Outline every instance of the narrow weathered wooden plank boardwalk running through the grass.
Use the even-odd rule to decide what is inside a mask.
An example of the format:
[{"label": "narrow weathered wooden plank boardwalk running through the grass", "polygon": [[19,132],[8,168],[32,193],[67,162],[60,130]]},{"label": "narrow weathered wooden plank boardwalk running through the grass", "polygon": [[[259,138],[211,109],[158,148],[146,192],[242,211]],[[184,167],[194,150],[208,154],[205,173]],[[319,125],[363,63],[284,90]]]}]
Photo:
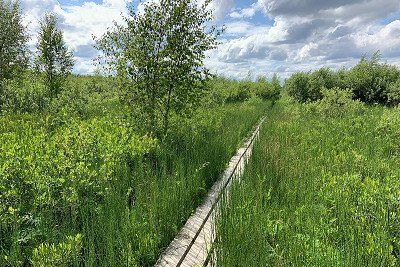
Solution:
[{"label": "narrow weathered wooden plank boardwalk running through the grass", "polygon": [[214,238],[214,218],[221,194],[229,190],[232,181],[239,179],[251,156],[254,140],[258,137],[263,118],[253,134],[229,161],[227,169],[209,191],[205,201],[187,220],[184,227],[160,256],[155,266],[205,266]]}]

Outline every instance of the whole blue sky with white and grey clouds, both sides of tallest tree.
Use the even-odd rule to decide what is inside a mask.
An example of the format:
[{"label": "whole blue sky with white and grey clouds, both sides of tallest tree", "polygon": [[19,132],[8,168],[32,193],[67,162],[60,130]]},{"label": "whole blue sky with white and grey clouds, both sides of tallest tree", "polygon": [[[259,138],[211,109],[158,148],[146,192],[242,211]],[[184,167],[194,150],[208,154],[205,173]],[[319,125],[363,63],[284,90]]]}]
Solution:
[{"label": "whole blue sky with white and grey clouds, both sides of tallest tree", "polygon": [[[146,0],[155,1],[155,0]],[[202,1],[202,0],[197,0]],[[55,12],[66,43],[75,53],[76,73],[91,73],[93,36],[122,22],[125,0],[22,0],[25,21],[36,42],[38,19]],[[380,50],[400,64],[399,0],[213,0],[215,23],[225,25],[222,44],[206,65],[221,75],[243,78],[322,66],[350,67],[363,54]]]}]

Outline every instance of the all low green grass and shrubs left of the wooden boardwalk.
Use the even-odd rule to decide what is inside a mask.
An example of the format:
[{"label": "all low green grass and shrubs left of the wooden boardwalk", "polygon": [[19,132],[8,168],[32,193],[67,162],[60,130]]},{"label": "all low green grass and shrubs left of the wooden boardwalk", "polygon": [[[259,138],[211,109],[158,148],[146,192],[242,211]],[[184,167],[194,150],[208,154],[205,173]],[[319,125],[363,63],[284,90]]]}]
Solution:
[{"label": "all low green grass and shrubs left of the wooden boardwalk", "polygon": [[165,142],[118,112],[0,116],[0,266],[150,266],[270,104],[200,109]]}]

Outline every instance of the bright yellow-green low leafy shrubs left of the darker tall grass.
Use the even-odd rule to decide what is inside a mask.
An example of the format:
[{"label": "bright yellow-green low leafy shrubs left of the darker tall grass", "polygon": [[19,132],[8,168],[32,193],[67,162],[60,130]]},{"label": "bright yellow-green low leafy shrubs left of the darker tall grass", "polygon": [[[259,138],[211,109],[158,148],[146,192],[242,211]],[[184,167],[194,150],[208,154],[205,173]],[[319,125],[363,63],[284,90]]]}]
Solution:
[{"label": "bright yellow-green low leafy shrubs left of the darker tall grass", "polygon": [[19,266],[39,241],[54,242],[58,231],[98,215],[116,196],[113,185],[127,177],[128,162],[155,146],[116,119],[69,118],[51,132],[51,118],[41,120],[0,117],[0,254],[10,262],[0,258],[0,266]]}]

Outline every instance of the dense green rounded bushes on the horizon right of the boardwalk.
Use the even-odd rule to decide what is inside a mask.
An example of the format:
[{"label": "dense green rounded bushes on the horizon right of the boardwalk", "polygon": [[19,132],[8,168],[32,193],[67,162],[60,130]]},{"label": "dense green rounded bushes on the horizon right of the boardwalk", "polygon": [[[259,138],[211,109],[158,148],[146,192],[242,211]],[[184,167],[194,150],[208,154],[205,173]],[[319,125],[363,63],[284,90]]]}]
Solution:
[{"label": "dense green rounded bushes on the horizon right of the boardwalk", "polygon": [[371,59],[361,58],[350,70],[334,72],[321,68],[314,72],[299,72],[286,80],[285,88],[295,101],[300,103],[318,101],[323,97],[323,88],[350,89],[353,98],[367,104],[396,105],[399,99],[398,83],[400,70],[396,66],[380,63],[380,54]]}]

